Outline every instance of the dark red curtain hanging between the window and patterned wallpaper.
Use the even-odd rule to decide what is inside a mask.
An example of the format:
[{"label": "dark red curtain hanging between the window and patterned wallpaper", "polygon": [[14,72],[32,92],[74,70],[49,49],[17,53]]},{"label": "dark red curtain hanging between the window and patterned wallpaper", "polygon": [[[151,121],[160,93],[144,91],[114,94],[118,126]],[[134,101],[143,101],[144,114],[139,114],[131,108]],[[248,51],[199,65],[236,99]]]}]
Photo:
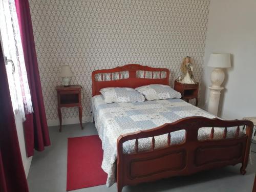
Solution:
[{"label": "dark red curtain hanging between the window and patterned wallpaper", "polygon": [[45,105],[42,98],[41,82],[35,51],[35,42],[28,0],[15,0],[20,36],[31,93],[33,114],[26,115],[24,122],[25,142],[28,157],[49,146],[50,137],[46,121]]}]

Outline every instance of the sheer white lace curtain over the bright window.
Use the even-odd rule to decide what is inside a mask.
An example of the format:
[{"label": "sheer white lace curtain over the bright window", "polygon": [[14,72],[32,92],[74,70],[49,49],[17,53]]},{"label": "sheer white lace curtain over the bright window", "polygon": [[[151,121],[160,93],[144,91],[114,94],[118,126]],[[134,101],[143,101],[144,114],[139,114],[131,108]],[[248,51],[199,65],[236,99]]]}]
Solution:
[{"label": "sheer white lace curtain over the bright window", "polygon": [[14,0],[0,0],[0,32],[4,55],[15,66],[13,74],[11,63],[6,65],[13,110],[25,121],[25,114],[33,113],[33,107]]}]

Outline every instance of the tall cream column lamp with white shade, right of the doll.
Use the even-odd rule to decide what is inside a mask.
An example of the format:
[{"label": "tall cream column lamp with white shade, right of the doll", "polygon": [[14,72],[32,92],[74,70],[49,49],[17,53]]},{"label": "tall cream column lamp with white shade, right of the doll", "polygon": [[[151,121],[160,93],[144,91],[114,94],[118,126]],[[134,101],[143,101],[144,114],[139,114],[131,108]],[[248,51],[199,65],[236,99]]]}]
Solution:
[{"label": "tall cream column lamp with white shade, right of the doll", "polygon": [[225,78],[223,68],[231,67],[230,54],[211,53],[208,61],[208,67],[215,68],[211,72],[211,86],[208,87],[210,89],[208,112],[217,116],[221,90],[224,89],[221,87],[221,84]]}]

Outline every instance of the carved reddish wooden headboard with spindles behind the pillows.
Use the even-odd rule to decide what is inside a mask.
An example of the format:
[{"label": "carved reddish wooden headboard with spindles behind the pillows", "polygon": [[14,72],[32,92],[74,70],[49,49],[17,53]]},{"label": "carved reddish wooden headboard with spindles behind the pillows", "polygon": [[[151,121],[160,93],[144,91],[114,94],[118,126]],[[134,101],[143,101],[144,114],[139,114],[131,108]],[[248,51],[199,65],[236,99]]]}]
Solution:
[{"label": "carved reddish wooden headboard with spindles behind the pillows", "polygon": [[108,87],[137,88],[147,84],[169,84],[169,70],[129,64],[113,69],[92,72],[92,95],[99,95],[100,89]]}]

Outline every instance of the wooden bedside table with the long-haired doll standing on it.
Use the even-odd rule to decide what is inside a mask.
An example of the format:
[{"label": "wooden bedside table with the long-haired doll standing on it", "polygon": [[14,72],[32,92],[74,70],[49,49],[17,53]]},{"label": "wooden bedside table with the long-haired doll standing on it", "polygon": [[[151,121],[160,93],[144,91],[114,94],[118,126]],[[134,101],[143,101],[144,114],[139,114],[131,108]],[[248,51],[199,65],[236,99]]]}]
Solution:
[{"label": "wooden bedside table with the long-haired doll standing on it", "polygon": [[178,81],[174,81],[174,89],[181,93],[181,98],[187,102],[190,99],[196,99],[196,106],[198,105],[198,85],[197,84],[183,84]]}]

